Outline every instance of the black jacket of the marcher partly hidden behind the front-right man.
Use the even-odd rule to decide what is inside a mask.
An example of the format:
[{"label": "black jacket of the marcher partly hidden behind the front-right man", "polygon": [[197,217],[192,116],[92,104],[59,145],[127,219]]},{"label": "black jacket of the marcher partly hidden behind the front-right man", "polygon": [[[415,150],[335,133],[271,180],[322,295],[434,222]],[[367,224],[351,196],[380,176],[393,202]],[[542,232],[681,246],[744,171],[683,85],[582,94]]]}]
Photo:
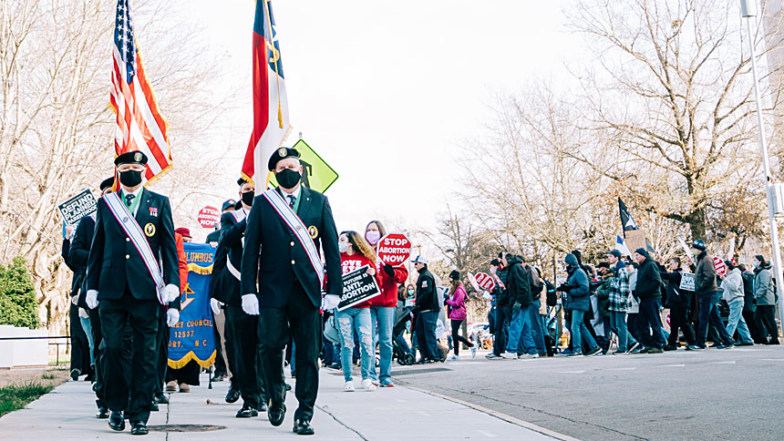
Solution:
[{"label": "black jacket of the marcher partly hidden behind the front-right man", "polygon": [[211,296],[222,303],[242,306],[240,281],[229,271],[226,262],[240,271],[242,268],[242,237],[245,234],[246,220],[239,222],[232,213],[221,216],[221,239],[212,262]]}]

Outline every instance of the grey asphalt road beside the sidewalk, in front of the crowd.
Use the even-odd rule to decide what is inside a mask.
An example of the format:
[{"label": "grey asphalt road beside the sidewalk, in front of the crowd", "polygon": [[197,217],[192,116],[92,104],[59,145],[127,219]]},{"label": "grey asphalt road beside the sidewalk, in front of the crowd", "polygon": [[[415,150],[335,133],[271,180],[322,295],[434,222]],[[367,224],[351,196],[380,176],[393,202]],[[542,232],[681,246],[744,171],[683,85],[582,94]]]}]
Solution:
[{"label": "grey asphalt road beside the sidewalk, in front of the crowd", "polygon": [[784,439],[784,347],[399,367],[396,380],[582,440]]}]

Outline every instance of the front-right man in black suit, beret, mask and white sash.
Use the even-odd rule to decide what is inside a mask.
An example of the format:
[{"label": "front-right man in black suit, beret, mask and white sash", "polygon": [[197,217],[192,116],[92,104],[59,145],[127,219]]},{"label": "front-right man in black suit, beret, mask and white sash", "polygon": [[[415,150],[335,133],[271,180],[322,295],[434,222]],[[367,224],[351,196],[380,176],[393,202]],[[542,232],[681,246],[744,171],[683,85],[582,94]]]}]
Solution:
[{"label": "front-right man in black suit, beret, mask and white sash", "polygon": [[321,245],[326,260],[327,297],[336,303],[343,293],[337,230],[326,197],[300,185],[303,167],[295,149],[277,149],[268,167],[279,187],[257,196],[246,220],[242,310],[259,314],[262,372],[270,401],[267,416],[273,426],[284,420],[283,351],[294,337],[294,395],[299,401],[294,432],[313,435],[324,278],[318,249]]}]

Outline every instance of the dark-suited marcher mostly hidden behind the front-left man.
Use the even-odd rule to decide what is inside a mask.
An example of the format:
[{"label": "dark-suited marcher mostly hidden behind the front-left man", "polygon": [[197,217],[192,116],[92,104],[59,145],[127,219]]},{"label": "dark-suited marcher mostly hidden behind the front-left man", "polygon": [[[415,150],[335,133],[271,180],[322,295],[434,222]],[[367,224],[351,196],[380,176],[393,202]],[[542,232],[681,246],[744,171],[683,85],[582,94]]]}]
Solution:
[{"label": "dark-suited marcher mostly hidden behind the front-left man", "polygon": [[[100,183],[100,192],[101,197],[103,195],[108,194],[112,191],[112,187],[114,186],[114,177],[104,179]],[[70,251],[68,251],[68,260],[74,265],[75,268],[80,269],[80,277],[78,281],[78,287],[74,287],[76,290],[79,290],[79,298],[77,301],[77,305],[80,308],[84,308],[88,312],[88,317],[90,321],[90,333],[92,334],[93,339],[93,359],[95,360],[95,365],[93,369],[95,371],[95,386],[93,387],[96,392],[96,405],[98,405],[98,413],[96,414],[97,418],[106,419],[108,418],[108,405],[106,404],[106,395],[104,391],[104,376],[106,375],[104,372],[101,371],[103,367],[103,363],[101,362],[101,354],[103,354],[103,347],[102,347],[102,338],[101,338],[101,331],[100,331],[100,317],[98,315],[98,308],[90,309],[88,308],[88,304],[86,302],[87,290],[84,288],[86,284],[85,274],[88,268],[88,258],[90,254],[90,244],[93,241],[93,232],[95,231],[95,216],[85,216],[82,220],[79,220],[79,224],[77,226],[77,231],[74,233],[74,240],[71,242]],[[74,278],[76,279],[76,270],[74,270]],[[76,282],[75,282],[76,283]],[[129,369],[129,364],[124,366],[126,370]],[[129,373],[129,371],[128,371]],[[130,374],[127,374],[130,376]]]}]

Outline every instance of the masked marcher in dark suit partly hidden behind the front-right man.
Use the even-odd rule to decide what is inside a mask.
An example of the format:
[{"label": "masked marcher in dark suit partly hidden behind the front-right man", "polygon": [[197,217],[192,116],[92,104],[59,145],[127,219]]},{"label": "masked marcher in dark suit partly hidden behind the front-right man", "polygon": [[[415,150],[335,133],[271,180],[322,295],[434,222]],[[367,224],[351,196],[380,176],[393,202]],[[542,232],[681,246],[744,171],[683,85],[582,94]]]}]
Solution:
[{"label": "masked marcher in dark suit partly hidden behind the front-right man", "polygon": [[220,272],[213,280],[215,289],[212,295],[225,304],[226,311],[226,345],[233,357],[229,364],[232,367],[232,385],[226,395],[226,401],[237,400],[236,391],[242,395],[242,408],[237,412],[238,418],[258,416],[259,410],[265,411],[263,379],[258,363],[259,317],[242,311],[240,292],[240,268],[242,268],[242,238],[245,235],[246,216],[251,210],[254,196],[253,182],[239,179],[240,198],[237,209],[224,212],[221,216],[221,240],[215,251],[212,273]]}]

